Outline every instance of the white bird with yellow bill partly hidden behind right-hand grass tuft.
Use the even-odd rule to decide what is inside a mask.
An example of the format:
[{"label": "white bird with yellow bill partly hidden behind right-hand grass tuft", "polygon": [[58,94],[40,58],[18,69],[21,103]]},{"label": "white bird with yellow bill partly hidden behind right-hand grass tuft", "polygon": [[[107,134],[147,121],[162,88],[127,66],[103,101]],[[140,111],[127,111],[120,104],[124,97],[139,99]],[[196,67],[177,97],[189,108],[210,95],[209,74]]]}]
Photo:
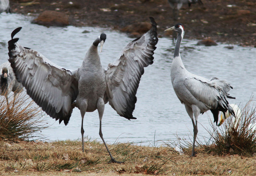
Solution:
[{"label": "white bird with yellow bill partly hidden behind right-hand grass tuft", "polygon": [[[234,123],[234,129],[237,130],[238,128],[238,123],[240,121],[240,118],[242,117],[242,113],[240,108],[236,105],[236,104],[230,104],[230,106],[232,107],[233,111],[235,112],[236,117],[234,117],[232,114],[230,114],[228,111],[225,112],[225,115],[223,114],[223,112],[220,112],[220,123],[218,124],[218,126],[221,126],[223,124],[223,122],[227,119],[227,118],[232,118],[231,121],[232,123]],[[250,123],[248,125],[248,129],[249,130],[256,130],[256,124],[255,123]]]}]

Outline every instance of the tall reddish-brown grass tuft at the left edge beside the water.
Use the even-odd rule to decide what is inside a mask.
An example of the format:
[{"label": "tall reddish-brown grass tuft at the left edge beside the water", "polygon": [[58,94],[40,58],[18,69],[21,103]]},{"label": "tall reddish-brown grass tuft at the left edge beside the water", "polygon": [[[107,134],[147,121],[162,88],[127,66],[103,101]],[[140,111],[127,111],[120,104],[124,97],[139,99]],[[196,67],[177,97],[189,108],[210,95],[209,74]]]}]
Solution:
[{"label": "tall reddish-brown grass tuft at the left edge beside the water", "polygon": [[9,104],[4,96],[0,97],[0,139],[36,140],[42,138],[38,132],[44,129],[41,109],[20,93],[15,102],[9,96]]}]

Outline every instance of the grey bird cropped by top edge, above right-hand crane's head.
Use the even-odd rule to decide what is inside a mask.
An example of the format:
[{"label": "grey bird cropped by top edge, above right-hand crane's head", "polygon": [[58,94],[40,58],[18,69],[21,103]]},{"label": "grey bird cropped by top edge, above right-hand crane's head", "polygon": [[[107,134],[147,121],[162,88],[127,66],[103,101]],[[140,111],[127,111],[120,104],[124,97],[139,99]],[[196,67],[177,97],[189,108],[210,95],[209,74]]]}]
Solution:
[{"label": "grey bird cropped by top edge, above right-hand crane's head", "polygon": [[201,0],[168,0],[168,3],[172,8],[174,20],[177,20],[179,17],[179,10],[182,4],[188,4],[189,7],[191,6],[191,4],[196,4],[196,3],[203,5],[203,2]]}]

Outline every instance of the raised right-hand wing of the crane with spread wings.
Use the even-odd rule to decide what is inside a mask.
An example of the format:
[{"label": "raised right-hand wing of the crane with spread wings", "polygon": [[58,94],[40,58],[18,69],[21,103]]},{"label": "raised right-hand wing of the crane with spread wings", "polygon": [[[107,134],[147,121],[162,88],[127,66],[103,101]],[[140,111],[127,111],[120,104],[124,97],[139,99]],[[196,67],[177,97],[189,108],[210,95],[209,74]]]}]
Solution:
[{"label": "raised right-hand wing of the crane with spread wings", "polygon": [[126,119],[132,116],[137,101],[136,92],[139,87],[144,67],[153,63],[153,54],[158,42],[156,22],[150,17],[152,28],[140,38],[126,45],[113,64],[106,69],[106,94],[109,104]]}]

